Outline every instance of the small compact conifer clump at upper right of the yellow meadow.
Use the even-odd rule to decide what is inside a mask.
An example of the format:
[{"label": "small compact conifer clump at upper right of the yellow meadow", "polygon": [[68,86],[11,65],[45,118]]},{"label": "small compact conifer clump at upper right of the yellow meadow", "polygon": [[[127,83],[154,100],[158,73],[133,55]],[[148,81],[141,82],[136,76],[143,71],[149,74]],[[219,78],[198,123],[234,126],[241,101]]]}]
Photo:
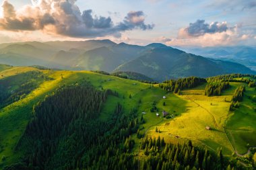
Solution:
[{"label": "small compact conifer clump at upper right of the yellow meadow", "polygon": [[222,91],[230,87],[228,82],[209,82],[205,87],[205,95],[221,95]]}]

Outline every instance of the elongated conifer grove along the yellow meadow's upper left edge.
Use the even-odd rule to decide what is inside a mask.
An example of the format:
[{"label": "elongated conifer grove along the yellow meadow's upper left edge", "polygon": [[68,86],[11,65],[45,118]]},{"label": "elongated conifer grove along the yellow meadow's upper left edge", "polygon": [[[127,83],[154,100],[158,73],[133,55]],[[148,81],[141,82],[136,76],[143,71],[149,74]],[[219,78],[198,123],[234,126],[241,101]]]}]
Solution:
[{"label": "elongated conifer grove along the yellow meadow's upper left edge", "polygon": [[179,90],[197,87],[198,85],[201,85],[201,83],[206,83],[206,80],[198,77],[187,77],[183,79],[164,81],[159,84],[159,87],[166,91],[178,93]]}]

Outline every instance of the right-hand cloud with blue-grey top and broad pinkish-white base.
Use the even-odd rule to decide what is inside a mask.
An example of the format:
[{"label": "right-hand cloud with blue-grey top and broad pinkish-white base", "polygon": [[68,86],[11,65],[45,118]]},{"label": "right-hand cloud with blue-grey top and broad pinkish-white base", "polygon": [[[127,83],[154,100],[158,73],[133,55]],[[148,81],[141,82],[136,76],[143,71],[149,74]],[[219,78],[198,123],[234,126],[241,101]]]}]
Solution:
[{"label": "right-hand cloud with blue-grey top and broad pinkish-white base", "polygon": [[160,39],[169,46],[232,46],[255,44],[254,37],[255,32],[244,30],[241,24],[228,27],[226,22],[206,24],[198,19],[188,27],[181,28],[177,38]]}]

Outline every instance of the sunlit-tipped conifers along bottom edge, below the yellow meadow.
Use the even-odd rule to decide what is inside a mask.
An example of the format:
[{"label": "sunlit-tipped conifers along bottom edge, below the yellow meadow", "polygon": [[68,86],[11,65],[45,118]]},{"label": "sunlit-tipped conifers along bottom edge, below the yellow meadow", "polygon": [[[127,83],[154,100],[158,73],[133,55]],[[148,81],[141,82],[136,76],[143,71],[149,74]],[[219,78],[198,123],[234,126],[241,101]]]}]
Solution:
[{"label": "sunlit-tipped conifers along bottom edge, below the yellow meadow", "polygon": [[[226,169],[228,162],[222,155],[187,144],[166,144],[164,138],[148,138],[141,142],[141,150],[147,157],[140,161],[142,169]],[[229,165],[230,167],[230,165]]]}]

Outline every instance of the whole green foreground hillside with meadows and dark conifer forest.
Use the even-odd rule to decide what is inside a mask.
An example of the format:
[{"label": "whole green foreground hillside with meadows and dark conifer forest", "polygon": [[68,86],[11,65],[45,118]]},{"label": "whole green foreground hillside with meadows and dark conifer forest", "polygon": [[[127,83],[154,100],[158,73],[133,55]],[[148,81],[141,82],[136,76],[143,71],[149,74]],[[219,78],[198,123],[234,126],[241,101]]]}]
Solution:
[{"label": "whole green foreground hillside with meadows and dark conifer forest", "polygon": [[[207,159],[209,155],[212,157],[212,167],[220,165],[226,168],[228,164],[231,167],[244,167],[251,163],[251,159],[245,157],[248,147],[256,146],[256,126],[253,123],[253,97],[256,91],[253,85],[249,87],[245,79],[254,81],[255,77],[233,77],[232,80],[239,82],[230,81],[230,87],[222,91],[221,95],[207,97],[204,93],[206,83],[195,84],[193,88],[184,87],[179,93],[168,93],[157,84],[152,86],[90,71],[5,67],[1,71],[0,80],[3,83],[11,81],[9,87],[1,88],[8,88],[10,91],[15,89],[31,73],[36,73],[30,80],[36,81],[36,86],[24,93],[24,97],[11,100],[11,103],[0,110],[0,169],[9,165],[12,167],[6,169],[22,169],[28,165],[39,169],[52,169],[55,166],[59,169],[100,169],[101,165],[108,168],[119,166],[137,169],[139,165],[139,169],[146,169],[147,166],[157,167],[157,163],[153,161],[159,159],[156,153],[162,155],[168,149],[170,152],[172,148],[180,151],[180,157],[185,157],[185,152],[179,148],[181,146],[176,145],[178,143],[184,144],[183,147],[189,148],[189,151],[193,148],[201,156],[198,165],[192,159],[190,163],[185,163],[177,158],[174,166],[179,163],[179,166],[205,167],[203,157]],[[240,85],[246,88],[243,101],[239,102],[239,108],[230,111],[232,96]],[[90,96],[95,97],[92,97],[92,101],[88,100],[88,88],[91,88]],[[94,104],[95,107],[90,108],[84,100],[88,103],[97,101],[98,105]],[[68,108],[73,107],[72,110],[75,111],[69,112],[63,103],[67,103]],[[57,108],[54,112],[47,111],[47,115],[46,111],[43,112],[44,105]],[[163,110],[169,115],[162,116]],[[67,116],[61,116],[63,113],[67,113]],[[157,113],[159,116],[156,116]],[[86,114],[91,116],[84,116]],[[47,126],[42,128],[44,124]],[[207,126],[210,130],[205,129]],[[156,128],[159,132],[156,132]],[[51,133],[53,136],[48,136]],[[164,138],[164,142],[159,146],[155,143],[156,146],[153,144],[154,147],[148,148],[146,140],[158,136],[160,139]],[[186,145],[189,140],[195,148],[191,144]],[[51,144],[47,141],[51,141]],[[159,149],[156,150],[156,147]],[[225,155],[223,163],[218,162],[220,148]],[[92,157],[92,153],[97,154]],[[119,155],[123,162],[117,164],[115,155]],[[37,162],[36,159],[42,161]],[[227,159],[232,161],[228,163]],[[243,163],[236,165],[237,159]],[[172,166],[171,160],[174,157],[166,159],[166,166],[168,163]]]}]

